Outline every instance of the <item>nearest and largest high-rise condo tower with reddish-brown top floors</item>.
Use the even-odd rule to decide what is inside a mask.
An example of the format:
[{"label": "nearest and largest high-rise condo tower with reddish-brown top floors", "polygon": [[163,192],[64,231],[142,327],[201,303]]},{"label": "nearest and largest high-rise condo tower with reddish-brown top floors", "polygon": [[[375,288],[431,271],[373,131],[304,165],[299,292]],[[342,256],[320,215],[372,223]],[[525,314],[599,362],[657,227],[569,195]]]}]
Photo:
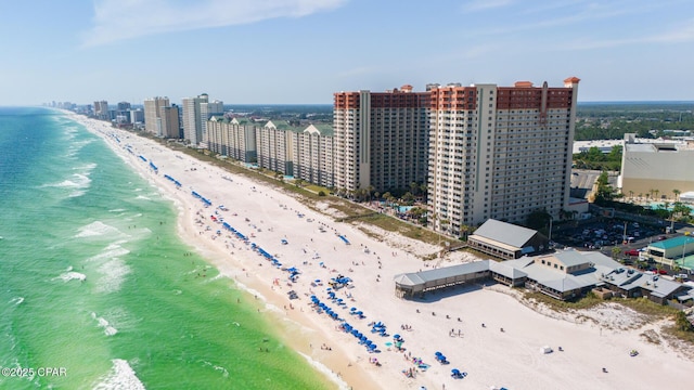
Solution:
[{"label": "nearest and largest high-rise condo tower with reddish-brown top floors", "polygon": [[564,87],[428,86],[428,206],[437,231],[553,218],[568,206],[578,78]]}]

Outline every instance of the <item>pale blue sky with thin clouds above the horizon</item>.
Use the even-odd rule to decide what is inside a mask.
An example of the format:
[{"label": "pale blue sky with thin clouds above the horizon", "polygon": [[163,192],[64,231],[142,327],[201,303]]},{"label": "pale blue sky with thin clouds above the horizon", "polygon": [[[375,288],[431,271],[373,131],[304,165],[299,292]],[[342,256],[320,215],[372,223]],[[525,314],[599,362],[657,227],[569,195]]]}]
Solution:
[{"label": "pale blue sky with thin clouds above the horizon", "polygon": [[574,76],[579,102],[694,101],[694,1],[0,1],[0,105],[332,104]]}]

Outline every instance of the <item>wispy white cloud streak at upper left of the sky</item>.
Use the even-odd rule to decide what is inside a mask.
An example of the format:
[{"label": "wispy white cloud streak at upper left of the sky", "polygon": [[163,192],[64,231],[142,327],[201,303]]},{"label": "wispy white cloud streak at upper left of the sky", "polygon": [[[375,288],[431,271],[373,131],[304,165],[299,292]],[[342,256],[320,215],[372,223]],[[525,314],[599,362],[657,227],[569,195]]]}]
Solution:
[{"label": "wispy white cloud streak at upper left of the sky", "polygon": [[93,27],[83,47],[155,34],[301,17],[347,0],[95,0]]}]

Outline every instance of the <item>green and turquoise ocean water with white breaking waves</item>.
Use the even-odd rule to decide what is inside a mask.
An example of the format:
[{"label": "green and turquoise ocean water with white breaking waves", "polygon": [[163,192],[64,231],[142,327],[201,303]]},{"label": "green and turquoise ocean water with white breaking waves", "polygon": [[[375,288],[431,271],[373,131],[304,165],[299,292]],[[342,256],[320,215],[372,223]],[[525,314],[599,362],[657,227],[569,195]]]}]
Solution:
[{"label": "green and turquoise ocean water with white breaking waves", "polygon": [[0,389],[330,389],[61,112],[0,107]]}]

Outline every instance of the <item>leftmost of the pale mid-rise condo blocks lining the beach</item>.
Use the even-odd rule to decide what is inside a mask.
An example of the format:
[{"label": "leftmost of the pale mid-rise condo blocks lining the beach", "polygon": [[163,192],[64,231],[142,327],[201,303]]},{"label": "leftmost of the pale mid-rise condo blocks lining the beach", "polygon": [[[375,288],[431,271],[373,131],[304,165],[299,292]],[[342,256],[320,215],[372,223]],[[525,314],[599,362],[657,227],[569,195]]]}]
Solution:
[{"label": "leftmost of the pale mid-rise condo blocks lining the beach", "polygon": [[247,118],[213,116],[206,127],[210,151],[246,164],[257,161],[256,123]]}]

